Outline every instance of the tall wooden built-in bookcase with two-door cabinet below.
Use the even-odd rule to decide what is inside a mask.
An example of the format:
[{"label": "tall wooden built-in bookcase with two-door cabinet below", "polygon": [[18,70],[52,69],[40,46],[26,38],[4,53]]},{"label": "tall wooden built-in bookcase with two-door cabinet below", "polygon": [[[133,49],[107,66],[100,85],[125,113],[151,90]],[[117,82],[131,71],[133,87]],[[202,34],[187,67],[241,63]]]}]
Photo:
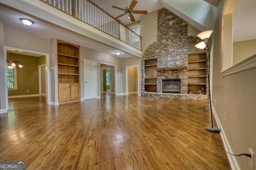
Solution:
[{"label": "tall wooden built-in bookcase with two-door cabinet below", "polygon": [[79,46],[57,41],[59,102],[80,99]]}]

